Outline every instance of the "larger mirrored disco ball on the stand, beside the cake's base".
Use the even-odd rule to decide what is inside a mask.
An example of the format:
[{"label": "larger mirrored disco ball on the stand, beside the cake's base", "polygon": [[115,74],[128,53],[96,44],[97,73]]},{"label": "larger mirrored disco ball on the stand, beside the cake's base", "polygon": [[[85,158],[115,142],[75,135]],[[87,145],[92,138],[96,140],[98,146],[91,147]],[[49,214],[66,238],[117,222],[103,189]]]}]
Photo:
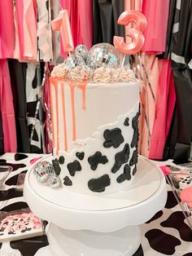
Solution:
[{"label": "larger mirrored disco ball on the stand, beside the cake's base", "polygon": [[55,175],[54,166],[48,161],[40,161],[33,167],[33,174],[37,181],[45,183],[50,176]]}]

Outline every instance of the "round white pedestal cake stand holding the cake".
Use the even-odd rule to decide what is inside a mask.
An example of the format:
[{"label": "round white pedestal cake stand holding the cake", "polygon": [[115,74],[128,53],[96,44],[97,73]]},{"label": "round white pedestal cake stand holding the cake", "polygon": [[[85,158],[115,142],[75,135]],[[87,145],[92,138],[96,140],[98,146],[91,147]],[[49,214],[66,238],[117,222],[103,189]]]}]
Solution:
[{"label": "round white pedestal cake stand holding the cake", "polygon": [[38,183],[31,168],[24,196],[34,214],[50,221],[50,245],[39,249],[36,256],[131,256],[141,243],[138,225],[164,208],[167,188],[159,168],[139,157],[128,190],[88,196],[52,189]]}]

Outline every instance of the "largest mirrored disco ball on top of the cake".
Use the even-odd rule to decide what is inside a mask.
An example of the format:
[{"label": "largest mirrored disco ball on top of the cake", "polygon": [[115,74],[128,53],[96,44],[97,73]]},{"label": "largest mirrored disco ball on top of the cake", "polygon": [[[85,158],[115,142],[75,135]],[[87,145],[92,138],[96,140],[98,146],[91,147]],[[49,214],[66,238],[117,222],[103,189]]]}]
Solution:
[{"label": "largest mirrored disco ball on top of the cake", "polygon": [[94,45],[86,59],[89,68],[95,69],[99,67],[119,68],[121,54],[111,44],[102,42]]}]

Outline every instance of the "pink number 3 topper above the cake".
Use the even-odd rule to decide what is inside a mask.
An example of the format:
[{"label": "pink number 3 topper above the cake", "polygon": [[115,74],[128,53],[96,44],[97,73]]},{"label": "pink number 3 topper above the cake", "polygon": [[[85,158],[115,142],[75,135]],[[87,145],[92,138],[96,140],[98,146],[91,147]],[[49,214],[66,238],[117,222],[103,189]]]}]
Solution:
[{"label": "pink number 3 topper above the cake", "polygon": [[125,55],[134,55],[142,49],[145,38],[142,32],[146,29],[146,16],[141,11],[124,11],[119,19],[118,24],[128,26],[133,24],[133,28],[127,29],[126,37],[132,38],[132,42],[124,42],[122,37],[114,37],[113,43],[116,49]]}]

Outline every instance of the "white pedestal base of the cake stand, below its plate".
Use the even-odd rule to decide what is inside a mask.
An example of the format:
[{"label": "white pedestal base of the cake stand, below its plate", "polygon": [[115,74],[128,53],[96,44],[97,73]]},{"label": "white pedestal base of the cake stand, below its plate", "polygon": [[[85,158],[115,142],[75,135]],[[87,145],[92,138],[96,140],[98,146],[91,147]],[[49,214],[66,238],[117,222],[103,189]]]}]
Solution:
[{"label": "white pedestal base of the cake stand, below its plate", "polygon": [[50,245],[35,256],[132,256],[141,243],[139,227],[125,227],[117,232],[71,231],[50,223]]}]

